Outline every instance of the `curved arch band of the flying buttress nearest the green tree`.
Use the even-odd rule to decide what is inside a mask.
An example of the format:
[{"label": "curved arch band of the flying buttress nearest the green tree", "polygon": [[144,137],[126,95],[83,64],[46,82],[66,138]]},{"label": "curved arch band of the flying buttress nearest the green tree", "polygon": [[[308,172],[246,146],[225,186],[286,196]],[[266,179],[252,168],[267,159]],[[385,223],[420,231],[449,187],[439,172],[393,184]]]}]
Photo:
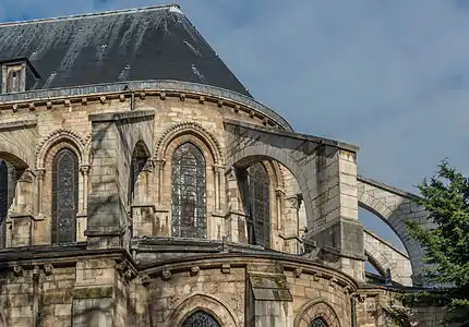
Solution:
[{"label": "curved arch band of the flying buttress nearest the green tree", "polygon": [[418,242],[409,237],[405,221],[386,203],[366,192],[358,193],[358,205],[381,218],[397,234],[409,255],[413,282],[420,283],[420,280],[417,279],[420,278],[419,275],[422,272],[423,254]]}]

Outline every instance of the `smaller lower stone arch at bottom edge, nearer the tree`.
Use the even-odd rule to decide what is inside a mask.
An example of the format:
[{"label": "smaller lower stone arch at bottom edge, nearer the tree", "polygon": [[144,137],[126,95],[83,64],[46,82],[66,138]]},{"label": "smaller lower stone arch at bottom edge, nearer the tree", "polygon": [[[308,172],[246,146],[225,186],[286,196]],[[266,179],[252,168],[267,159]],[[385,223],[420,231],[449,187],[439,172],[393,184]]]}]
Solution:
[{"label": "smaller lower stone arch at bottom edge, nearer the tree", "polygon": [[309,327],[315,318],[323,318],[329,327],[340,327],[340,319],[334,308],[323,299],[316,299],[304,304],[297,317],[293,327]]}]

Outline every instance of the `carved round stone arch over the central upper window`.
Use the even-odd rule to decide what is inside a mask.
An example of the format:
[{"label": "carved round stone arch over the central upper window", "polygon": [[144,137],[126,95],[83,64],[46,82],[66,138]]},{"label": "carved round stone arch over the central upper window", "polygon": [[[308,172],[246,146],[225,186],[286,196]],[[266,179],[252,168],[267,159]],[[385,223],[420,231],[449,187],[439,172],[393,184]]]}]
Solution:
[{"label": "carved round stone arch over the central upper window", "polygon": [[201,124],[195,122],[179,123],[166,130],[156,145],[156,159],[164,160],[168,150],[168,145],[182,135],[193,135],[194,138],[202,141],[211,152],[215,165],[224,164],[221,147],[217,138]]}]

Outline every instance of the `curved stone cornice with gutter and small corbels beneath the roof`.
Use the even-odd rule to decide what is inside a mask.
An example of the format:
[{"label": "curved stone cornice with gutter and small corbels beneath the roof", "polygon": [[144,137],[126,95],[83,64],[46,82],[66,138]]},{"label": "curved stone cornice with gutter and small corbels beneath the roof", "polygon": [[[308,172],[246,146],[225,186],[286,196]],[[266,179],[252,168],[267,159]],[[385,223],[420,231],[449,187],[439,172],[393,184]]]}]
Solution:
[{"label": "curved stone cornice with gutter and small corbels beneath the roof", "polygon": [[[53,105],[69,105],[71,102],[83,102],[83,99],[103,101],[107,98],[119,98],[120,95],[142,95],[194,98],[201,101],[212,101],[220,106],[232,107],[234,111],[244,110],[261,117],[267,117],[274,124],[292,132],[291,125],[277,112],[267,106],[239,93],[220,87],[180,82],[180,81],[128,81],[110,84],[96,84],[88,86],[76,86],[65,88],[51,88],[22,92],[15,94],[0,94],[0,110],[21,108],[37,108],[40,105],[51,108]],[[86,102],[85,101],[85,102]],[[241,105],[241,106],[240,106]],[[268,123],[268,120],[266,121]]]}]

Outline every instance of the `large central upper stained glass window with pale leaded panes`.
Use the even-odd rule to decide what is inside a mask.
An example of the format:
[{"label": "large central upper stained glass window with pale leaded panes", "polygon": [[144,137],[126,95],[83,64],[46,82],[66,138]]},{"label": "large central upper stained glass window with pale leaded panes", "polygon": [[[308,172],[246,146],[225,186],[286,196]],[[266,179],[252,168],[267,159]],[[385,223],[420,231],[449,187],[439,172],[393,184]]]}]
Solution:
[{"label": "large central upper stained glass window with pale leaded panes", "polygon": [[176,149],[171,181],[172,235],[206,238],[205,158],[192,143]]}]

